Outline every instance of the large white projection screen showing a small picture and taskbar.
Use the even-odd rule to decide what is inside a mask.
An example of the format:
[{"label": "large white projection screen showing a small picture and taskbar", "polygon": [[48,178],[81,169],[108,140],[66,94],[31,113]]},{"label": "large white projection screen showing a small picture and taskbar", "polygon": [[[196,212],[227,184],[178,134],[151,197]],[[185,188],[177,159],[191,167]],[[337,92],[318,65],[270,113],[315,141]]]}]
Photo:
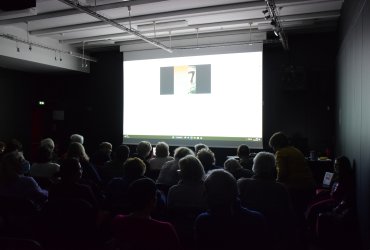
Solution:
[{"label": "large white projection screen showing a small picture and taskbar", "polygon": [[262,45],[123,57],[123,143],[262,148]]}]

